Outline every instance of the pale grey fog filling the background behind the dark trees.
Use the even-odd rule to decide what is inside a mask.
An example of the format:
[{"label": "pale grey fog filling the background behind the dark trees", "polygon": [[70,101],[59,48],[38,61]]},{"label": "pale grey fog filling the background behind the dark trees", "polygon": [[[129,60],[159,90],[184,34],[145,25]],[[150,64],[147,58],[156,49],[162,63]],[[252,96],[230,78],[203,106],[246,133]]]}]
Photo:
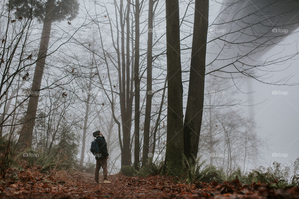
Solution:
[{"label": "pale grey fog filling the background behind the dark trees", "polygon": [[[204,155],[210,163],[217,160],[214,164],[219,168],[222,162],[222,167],[227,167],[227,174],[238,167],[244,167],[243,172],[248,172],[260,165],[268,166],[273,161],[287,164],[294,162],[299,157],[298,3],[290,0],[209,2],[203,122],[200,142],[197,145],[199,152],[195,156]],[[15,74],[12,84],[2,82],[2,86],[5,85],[4,87],[7,88],[5,92],[1,91],[6,99],[0,99],[2,100],[0,108],[3,110],[1,113],[3,137],[11,135],[12,140],[16,142],[22,140],[23,125],[27,125],[31,128],[29,142],[34,150],[49,155],[54,154],[51,150],[55,147],[60,150],[62,143],[74,144],[72,145],[74,165],[80,165],[79,167],[82,168],[84,164],[87,170],[88,166],[94,165],[95,162],[94,156],[89,151],[90,143],[94,140],[92,133],[101,130],[107,138],[110,153],[109,172],[118,173],[124,164],[122,161],[125,160],[128,161],[126,165],[133,165],[136,119],[133,71],[136,38],[135,1],[132,2],[128,14],[130,26],[128,29],[125,16],[126,3],[125,1],[123,11],[120,12],[120,1],[81,0],[76,16],[70,19],[68,17],[71,12],[67,12],[64,13],[65,18],[61,21],[53,20],[49,33],[49,47],[46,48],[48,52],[46,52],[45,69],[42,70],[44,74],[41,82],[38,83],[41,86],[39,89],[34,89],[32,84],[35,82],[34,72],[37,71],[34,70],[34,66],[40,59],[38,50],[43,44],[40,42],[43,22],[33,18],[32,24],[23,23],[23,18],[16,17],[19,11],[14,10],[15,15],[8,13],[7,5],[1,3],[2,13],[4,13],[1,16],[1,39],[6,38],[5,35],[18,37],[19,33],[28,32],[27,36],[20,36],[21,41],[24,38],[28,39],[24,42],[25,54],[28,58],[24,58],[20,53],[22,45],[15,44],[16,39],[10,39],[9,48],[16,45],[19,54],[11,56],[13,57],[11,60],[15,61],[11,66],[12,74]],[[67,3],[63,6],[65,11],[73,9]],[[150,29],[148,29],[148,7],[149,2],[142,1],[138,66],[140,144],[139,151],[136,153],[142,158],[144,156],[142,151],[147,147],[143,141],[147,121],[146,101],[149,97],[147,79],[150,75],[147,73],[147,42],[151,32],[153,33],[153,61],[152,68],[150,67],[152,69],[152,90],[150,91],[153,97],[148,118],[150,121],[148,154],[153,155],[156,162],[161,162],[165,160],[165,150],[169,141],[167,127],[174,125],[168,123],[167,118],[168,99],[173,96],[168,96],[168,87],[164,87],[168,74],[167,61],[169,61],[166,53],[165,2],[155,1],[153,28]],[[179,2],[184,115],[189,93],[192,31],[196,23],[193,21],[194,12],[192,1]],[[123,15],[123,32],[121,32],[120,13]],[[58,12],[55,14],[58,16]],[[17,20],[7,22],[6,15],[12,15]],[[15,26],[9,26],[12,24]],[[6,25],[9,27],[7,31],[5,31]],[[23,29],[26,31],[22,32]],[[129,31],[128,37],[126,37],[127,31]],[[6,56],[7,59],[3,59],[3,63],[5,61],[8,64],[10,62],[6,60],[9,60],[12,51],[5,50],[4,42],[5,39],[2,40],[2,57]],[[24,68],[17,68],[18,62]],[[9,76],[5,73],[5,69],[1,70],[3,79]],[[127,88],[124,85],[129,89],[124,89]],[[121,98],[123,96],[120,87],[126,90],[125,98]],[[16,90],[22,94],[17,94]],[[26,120],[27,115],[34,110],[27,109],[30,106],[31,95],[25,94],[24,90],[27,92],[38,90],[39,93],[35,115],[28,120]],[[8,96],[12,96],[11,100]],[[212,98],[214,101],[211,100]],[[125,109],[122,106],[124,101]],[[225,129],[225,125],[231,122],[228,120],[238,119],[240,121],[234,124],[237,127],[234,126],[231,134],[228,135]],[[28,125],[30,121],[33,123]],[[245,138],[244,133],[246,133]],[[252,136],[250,137],[252,148],[248,146],[249,155],[245,145],[247,133]],[[124,137],[129,138],[124,141]],[[25,138],[27,139],[27,136]],[[230,163],[234,159],[234,165],[228,171],[229,163],[224,158],[212,158],[211,154],[217,153],[226,157],[231,150],[228,149],[231,143],[227,141],[230,139],[235,139],[232,144],[235,156],[233,158],[230,156]],[[152,151],[154,154],[151,153]],[[124,158],[126,155],[127,157]],[[141,163],[142,160],[140,159],[139,162]]]}]

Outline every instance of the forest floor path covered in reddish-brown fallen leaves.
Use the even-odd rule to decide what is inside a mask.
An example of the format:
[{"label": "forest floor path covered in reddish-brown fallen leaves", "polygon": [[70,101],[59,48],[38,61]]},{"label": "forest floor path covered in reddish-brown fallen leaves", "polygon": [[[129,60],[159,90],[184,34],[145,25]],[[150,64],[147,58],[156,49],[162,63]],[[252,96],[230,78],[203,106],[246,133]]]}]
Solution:
[{"label": "forest floor path covered in reddish-brown fallen leaves", "polygon": [[[100,175],[100,181],[102,176]],[[243,185],[238,180],[218,184],[180,184],[169,176],[127,177],[109,175],[112,183],[94,183],[94,175],[84,172],[15,172],[15,180],[1,179],[0,198],[299,198],[299,187],[277,189],[266,184]]]}]

